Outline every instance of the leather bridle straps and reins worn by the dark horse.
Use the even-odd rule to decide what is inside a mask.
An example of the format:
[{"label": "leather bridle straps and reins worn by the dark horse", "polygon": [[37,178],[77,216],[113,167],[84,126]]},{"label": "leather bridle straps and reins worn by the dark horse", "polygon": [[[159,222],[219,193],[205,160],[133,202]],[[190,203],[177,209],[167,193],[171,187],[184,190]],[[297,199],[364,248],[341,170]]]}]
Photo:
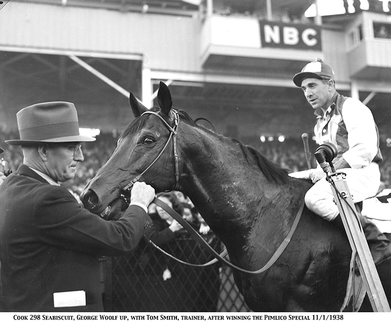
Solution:
[{"label": "leather bridle straps and reins worn by the dark horse", "polygon": [[[173,119],[174,119],[173,126],[170,126],[167,123],[167,121],[165,121],[156,112],[146,111],[146,112],[144,112],[141,115],[144,115],[144,114],[152,114],[152,115],[157,116],[161,121],[163,121],[164,125],[169,129],[170,135],[169,135],[169,138],[167,139],[167,142],[163,146],[162,150],[159,152],[159,154],[156,156],[156,158],[152,161],[152,163],[141,174],[139,174],[135,178],[133,178],[130,181],[130,183],[122,189],[122,192],[120,194],[120,198],[122,198],[128,204],[130,203],[130,200],[126,197],[128,195],[127,192],[129,192],[131,187],[133,186],[133,184],[136,181],[139,181],[141,176],[148,169],[151,168],[151,166],[155,163],[155,161],[157,161],[160,158],[160,156],[163,154],[163,152],[165,151],[165,149],[169,145],[169,142],[171,141],[171,138],[173,138],[173,145],[174,145],[175,180],[176,180],[175,185],[173,187],[173,190],[178,185],[178,181],[179,181],[179,158],[178,158],[177,149],[176,149],[176,135],[177,135],[177,129],[178,129],[178,126],[179,126],[179,114],[178,114],[178,112],[176,110],[174,110],[174,109],[170,110],[170,114],[173,115]],[[192,266],[206,266],[206,265],[210,265],[210,264],[212,264],[214,262],[217,262],[217,260],[218,260],[218,261],[221,261],[221,262],[225,263],[227,266],[229,266],[231,268],[234,268],[234,269],[237,269],[237,270],[239,270],[239,271],[241,271],[243,273],[249,273],[249,274],[259,274],[259,273],[262,273],[262,272],[266,271],[267,269],[269,269],[270,266],[272,266],[277,261],[277,259],[280,257],[280,255],[282,254],[282,252],[284,251],[284,249],[288,245],[289,241],[291,240],[291,238],[292,238],[292,236],[293,236],[293,234],[294,234],[294,232],[296,230],[296,227],[297,227],[297,225],[298,225],[298,223],[300,221],[300,218],[301,218],[301,215],[302,215],[303,209],[304,209],[304,200],[303,200],[301,205],[300,205],[300,208],[299,208],[299,210],[298,210],[298,212],[296,214],[295,220],[293,221],[292,226],[291,226],[291,228],[290,228],[290,230],[288,232],[288,234],[286,235],[286,237],[284,238],[284,240],[282,241],[280,246],[277,248],[277,250],[274,252],[274,254],[270,257],[269,261],[263,267],[261,267],[260,269],[258,269],[256,271],[250,271],[250,270],[241,268],[239,266],[236,266],[235,264],[233,264],[233,263],[229,262],[228,260],[226,260],[224,258],[227,255],[227,253],[228,253],[226,249],[223,252],[221,252],[220,254],[218,254],[208,244],[208,242],[205,241],[201,237],[201,235],[198,234],[198,232],[189,224],[188,221],[183,219],[182,216],[180,216],[176,211],[174,211],[172,208],[170,208],[166,203],[164,203],[163,201],[161,201],[160,199],[157,199],[157,198],[154,198],[152,202],[154,204],[156,204],[157,206],[163,208],[166,212],[168,212],[171,215],[171,217],[173,217],[176,221],[178,221],[182,225],[182,227],[185,228],[190,233],[190,235],[193,236],[195,238],[195,240],[198,241],[206,249],[206,251],[210,255],[212,255],[215,259],[210,261],[210,262],[207,262],[205,264],[191,264],[191,263],[188,263],[188,262],[183,262],[183,261],[180,261],[180,260],[174,258],[172,255],[166,253],[160,247],[155,245],[151,240],[149,240],[156,248],[158,248],[159,250],[163,251],[168,256],[174,258],[176,261],[182,262],[182,263],[185,263],[185,264],[188,264],[188,265],[192,265]]]}]

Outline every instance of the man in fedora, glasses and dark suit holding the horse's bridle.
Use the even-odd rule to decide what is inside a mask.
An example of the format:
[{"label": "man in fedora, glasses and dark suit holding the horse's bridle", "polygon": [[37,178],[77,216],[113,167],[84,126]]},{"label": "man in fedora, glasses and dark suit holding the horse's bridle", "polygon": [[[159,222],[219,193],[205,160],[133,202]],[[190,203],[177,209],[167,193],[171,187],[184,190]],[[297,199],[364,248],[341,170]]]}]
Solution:
[{"label": "man in fedora, glasses and dark suit holding the horse's bridle", "polygon": [[99,256],[132,250],[150,228],[154,189],[136,182],[117,221],[84,209],[59,182],[84,160],[75,106],[46,102],[17,113],[23,164],[0,186],[2,311],[103,311]]}]

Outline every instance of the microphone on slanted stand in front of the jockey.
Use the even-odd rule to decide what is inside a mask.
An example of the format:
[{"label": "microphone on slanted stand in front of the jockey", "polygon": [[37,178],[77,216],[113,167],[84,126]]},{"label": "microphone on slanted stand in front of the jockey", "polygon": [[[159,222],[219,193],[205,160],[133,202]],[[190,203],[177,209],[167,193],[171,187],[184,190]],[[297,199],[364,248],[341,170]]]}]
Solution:
[{"label": "microphone on slanted stand in front of the jockey", "polygon": [[326,173],[326,179],[331,185],[352,251],[355,250],[357,252],[356,263],[372,309],[374,312],[391,312],[383,285],[372,260],[367,240],[363,234],[361,223],[355,214],[355,206],[345,180],[346,173],[335,172],[331,162],[337,154],[335,145],[327,142],[317,148],[315,158]]}]

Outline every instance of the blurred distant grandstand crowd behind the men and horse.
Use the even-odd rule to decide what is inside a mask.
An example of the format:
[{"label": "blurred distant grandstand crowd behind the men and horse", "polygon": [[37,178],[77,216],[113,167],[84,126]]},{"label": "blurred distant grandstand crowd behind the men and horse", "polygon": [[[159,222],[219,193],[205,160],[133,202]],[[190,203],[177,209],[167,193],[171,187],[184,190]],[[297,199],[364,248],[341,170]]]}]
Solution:
[{"label": "blurred distant grandstand crowd behind the men and horse", "polygon": [[[97,136],[94,142],[83,143],[82,149],[85,160],[78,165],[76,176],[73,180],[66,183],[66,187],[72,189],[73,192],[79,194],[83,187],[91,178],[95,176],[99,168],[105,164],[113,153],[118,139],[119,133],[101,133]],[[0,131],[0,140],[18,139],[17,132]],[[286,168],[289,172],[302,171],[307,169],[305,160],[303,141],[301,138],[288,138],[283,142],[278,140],[261,142],[259,138],[245,138],[242,143],[251,145],[256,148],[261,155],[266,159]],[[385,141],[380,141],[381,151],[384,162],[380,165],[381,180],[386,187],[391,187],[391,147]],[[311,165],[316,166],[316,161],[313,153],[316,149],[314,141],[309,140],[311,152]],[[5,152],[1,157],[9,162],[10,169],[15,171],[22,163],[22,150],[20,147],[11,146],[6,143],[0,145]]]}]

